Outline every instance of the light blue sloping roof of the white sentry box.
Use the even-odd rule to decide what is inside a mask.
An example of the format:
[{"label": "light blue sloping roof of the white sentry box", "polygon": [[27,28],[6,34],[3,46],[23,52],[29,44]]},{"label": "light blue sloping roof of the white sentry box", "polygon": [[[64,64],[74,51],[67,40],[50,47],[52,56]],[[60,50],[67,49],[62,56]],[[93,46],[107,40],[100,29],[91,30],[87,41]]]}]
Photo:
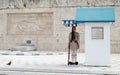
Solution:
[{"label": "light blue sloping roof of the white sentry box", "polygon": [[76,22],[115,22],[114,8],[77,8]]}]

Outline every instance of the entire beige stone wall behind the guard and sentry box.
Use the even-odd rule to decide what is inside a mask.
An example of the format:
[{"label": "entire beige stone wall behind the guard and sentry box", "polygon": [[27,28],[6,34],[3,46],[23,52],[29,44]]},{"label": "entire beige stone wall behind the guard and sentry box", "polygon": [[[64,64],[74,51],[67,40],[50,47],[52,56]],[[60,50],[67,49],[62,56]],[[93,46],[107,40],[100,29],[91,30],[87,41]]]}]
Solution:
[{"label": "entire beige stone wall behind the guard and sentry box", "polygon": [[[63,19],[75,19],[77,7],[114,7],[111,52],[120,53],[120,0],[0,0],[0,50],[31,40],[40,51],[67,51],[71,28]],[[84,52],[84,25],[78,26]]]}]

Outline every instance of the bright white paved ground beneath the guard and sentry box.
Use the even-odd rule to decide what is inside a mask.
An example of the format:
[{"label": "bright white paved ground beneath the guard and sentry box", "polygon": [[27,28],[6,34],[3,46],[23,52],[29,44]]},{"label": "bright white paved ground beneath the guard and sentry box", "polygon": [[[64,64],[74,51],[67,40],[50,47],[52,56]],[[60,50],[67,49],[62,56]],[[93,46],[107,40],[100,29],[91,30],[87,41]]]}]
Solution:
[{"label": "bright white paved ground beneath the guard and sentry box", "polygon": [[[38,52],[39,53],[39,52]],[[120,54],[111,55],[110,67],[85,66],[84,53],[78,54],[79,65],[67,65],[67,53],[0,55],[0,74],[7,75],[103,75],[120,74]],[[24,53],[25,54],[25,53]],[[12,61],[11,65],[6,65]]]}]

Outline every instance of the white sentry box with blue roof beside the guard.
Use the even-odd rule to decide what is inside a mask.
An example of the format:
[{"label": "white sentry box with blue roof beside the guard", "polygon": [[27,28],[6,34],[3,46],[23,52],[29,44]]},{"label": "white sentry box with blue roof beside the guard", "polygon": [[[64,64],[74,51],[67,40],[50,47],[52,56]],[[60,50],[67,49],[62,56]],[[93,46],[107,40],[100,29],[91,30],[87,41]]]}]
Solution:
[{"label": "white sentry box with blue roof beside the guard", "polygon": [[[85,65],[110,66],[110,26],[115,22],[114,8],[77,8],[73,22],[85,25]],[[70,20],[71,21],[71,20]],[[73,24],[72,24],[73,23]]]}]

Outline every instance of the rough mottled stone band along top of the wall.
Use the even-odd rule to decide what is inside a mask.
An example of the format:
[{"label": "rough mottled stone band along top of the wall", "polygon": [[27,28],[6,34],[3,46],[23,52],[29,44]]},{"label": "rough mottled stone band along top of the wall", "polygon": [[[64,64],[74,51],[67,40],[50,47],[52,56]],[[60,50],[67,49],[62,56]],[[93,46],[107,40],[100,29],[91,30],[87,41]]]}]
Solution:
[{"label": "rough mottled stone band along top of the wall", "polygon": [[0,8],[119,6],[120,0],[0,0]]}]

